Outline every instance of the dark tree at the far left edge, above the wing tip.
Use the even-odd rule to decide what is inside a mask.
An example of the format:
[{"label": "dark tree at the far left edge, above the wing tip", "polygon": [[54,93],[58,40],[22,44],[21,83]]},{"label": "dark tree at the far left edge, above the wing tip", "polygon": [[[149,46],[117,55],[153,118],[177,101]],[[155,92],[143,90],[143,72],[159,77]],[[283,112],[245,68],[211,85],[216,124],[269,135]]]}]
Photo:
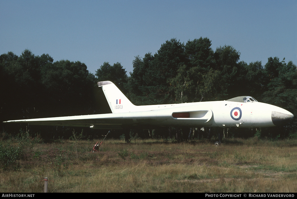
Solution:
[{"label": "dark tree at the far left edge, above the wing tip", "polygon": [[35,55],[28,49],[18,57],[12,52],[1,55],[4,76],[3,105],[8,106],[7,117],[31,118],[37,112],[40,96],[40,65]]}]

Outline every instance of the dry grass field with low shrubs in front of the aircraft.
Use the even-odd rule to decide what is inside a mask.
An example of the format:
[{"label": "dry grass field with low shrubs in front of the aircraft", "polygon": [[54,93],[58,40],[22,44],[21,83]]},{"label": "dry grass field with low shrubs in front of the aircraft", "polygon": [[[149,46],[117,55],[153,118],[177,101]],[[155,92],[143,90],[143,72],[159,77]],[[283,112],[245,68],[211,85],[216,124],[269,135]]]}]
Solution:
[{"label": "dry grass field with low shrubs in front of the aircraft", "polygon": [[[2,140],[0,192],[297,192],[297,140]],[[2,154],[3,156],[3,154]]]}]

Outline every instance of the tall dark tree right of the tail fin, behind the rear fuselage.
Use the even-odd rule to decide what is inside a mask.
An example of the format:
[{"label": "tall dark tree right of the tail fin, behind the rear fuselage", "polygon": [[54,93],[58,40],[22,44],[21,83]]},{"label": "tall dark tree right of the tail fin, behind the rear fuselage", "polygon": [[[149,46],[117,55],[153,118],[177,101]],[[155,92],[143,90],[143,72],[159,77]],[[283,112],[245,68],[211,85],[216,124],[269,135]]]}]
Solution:
[{"label": "tall dark tree right of the tail fin, behind the rear fuselage", "polygon": [[178,67],[185,60],[184,44],[175,38],[162,44],[154,56],[147,53],[143,60],[136,57],[129,84],[138,84],[138,89],[134,86],[129,93],[131,96],[133,91],[140,93],[140,104],[174,103],[175,93],[170,79],[176,76]]}]

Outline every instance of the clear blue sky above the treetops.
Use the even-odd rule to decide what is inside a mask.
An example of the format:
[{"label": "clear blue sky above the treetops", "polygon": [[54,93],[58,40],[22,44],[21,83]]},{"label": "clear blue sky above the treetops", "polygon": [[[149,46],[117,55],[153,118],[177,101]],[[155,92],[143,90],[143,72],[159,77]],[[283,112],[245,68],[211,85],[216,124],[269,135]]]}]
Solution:
[{"label": "clear blue sky above the treetops", "polygon": [[297,1],[0,0],[0,54],[49,54],[80,61],[91,73],[104,62],[133,71],[135,56],[166,40],[207,37],[231,45],[247,63],[279,57],[297,65]]}]

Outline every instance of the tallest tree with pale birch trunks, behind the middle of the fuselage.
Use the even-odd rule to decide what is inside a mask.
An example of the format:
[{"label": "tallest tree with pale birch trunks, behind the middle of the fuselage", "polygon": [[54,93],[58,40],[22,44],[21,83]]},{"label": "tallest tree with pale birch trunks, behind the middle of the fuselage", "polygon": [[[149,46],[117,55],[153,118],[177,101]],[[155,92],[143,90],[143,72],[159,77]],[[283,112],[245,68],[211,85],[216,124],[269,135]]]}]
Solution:
[{"label": "tallest tree with pale birch trunks, behind the middle of the fuselage", "polygon": [[185,64],[180,65],[176,77],[170,80],[174,86],[176,101],[194,102],[211,99],[217,86],[214,83],[219,78],[219,72],[212,69],[214,52],[211,49],[211,41],[202,37],[188,41],[185,45],[185,54],[187,57]]}]

